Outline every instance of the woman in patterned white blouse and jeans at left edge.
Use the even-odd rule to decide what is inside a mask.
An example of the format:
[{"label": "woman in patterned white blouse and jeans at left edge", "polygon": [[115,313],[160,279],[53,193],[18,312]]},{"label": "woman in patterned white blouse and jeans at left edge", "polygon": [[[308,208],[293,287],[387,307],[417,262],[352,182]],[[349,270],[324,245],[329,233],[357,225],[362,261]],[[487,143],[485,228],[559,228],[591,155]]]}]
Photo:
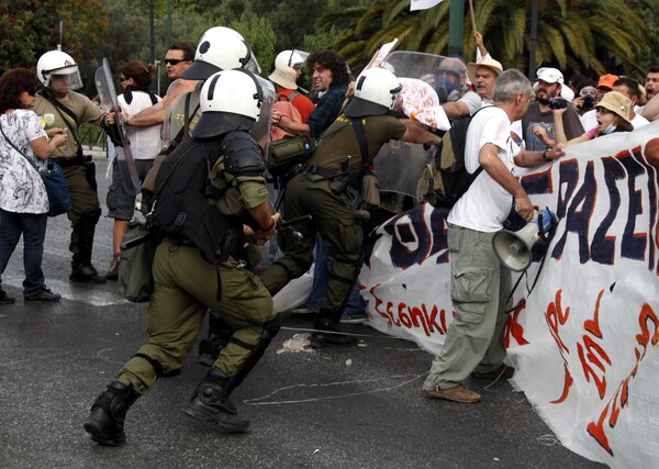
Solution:
[{"label": "woman in patterned white blouse and jeans at left edge", "polygon": [[[33,70],[14,68],[0,77],[0,275],[23,235],[23,298],[25,302],[57,301],[45,284],[42,270],[48,212],[48,194],[33,164],[45,169],[57,147],[67,143],[60,127],[51,129],[51,137],[31,111],[36,101],[38,81]],[[0,304],[15,301],[2,289]]]}]

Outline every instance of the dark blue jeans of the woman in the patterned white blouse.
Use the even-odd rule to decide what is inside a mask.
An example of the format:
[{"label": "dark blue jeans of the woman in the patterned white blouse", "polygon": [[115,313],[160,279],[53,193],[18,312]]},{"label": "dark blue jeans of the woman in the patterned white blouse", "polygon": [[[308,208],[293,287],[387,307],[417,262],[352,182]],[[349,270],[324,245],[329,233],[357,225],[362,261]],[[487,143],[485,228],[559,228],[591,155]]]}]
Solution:
[{"label": "dark blue jeans of the woman in the patterned white blouse", "polygon": [[[30,295],[44,287],[44,272],[41,268],[44,257],[44,239],[46,237],[45,213],[13,213],[0,209],[0,275],[9,264],[21,233],[23,234],[23,295]],[[0,286],[2,281],[0,280]]]}]

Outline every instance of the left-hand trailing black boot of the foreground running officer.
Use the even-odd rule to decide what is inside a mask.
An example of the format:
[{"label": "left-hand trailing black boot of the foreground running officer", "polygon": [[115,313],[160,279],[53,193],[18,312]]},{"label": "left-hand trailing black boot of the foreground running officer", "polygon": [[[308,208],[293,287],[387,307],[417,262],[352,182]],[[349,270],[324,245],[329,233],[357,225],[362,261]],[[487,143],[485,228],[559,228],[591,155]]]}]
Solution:
[{"label": "left-hand trailing black boot of the foreground running officer", "polygon": [[96,443],[107,446],[121,445],[126,439],[123,431],[129,407],[139,395],[125,384],[112,381],[91,406],[85,423],[85,432]]}]

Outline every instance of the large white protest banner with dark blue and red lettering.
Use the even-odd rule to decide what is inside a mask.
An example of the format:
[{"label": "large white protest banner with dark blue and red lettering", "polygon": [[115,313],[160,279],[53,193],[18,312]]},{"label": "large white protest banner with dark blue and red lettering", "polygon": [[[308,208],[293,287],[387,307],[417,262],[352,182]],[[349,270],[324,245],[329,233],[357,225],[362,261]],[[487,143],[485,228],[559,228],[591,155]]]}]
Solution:
[{"label": "large white protest banner with dark blue and red lettering", "polygon": [[[515,174],[559,225],[509,315],[513,384],[566,447],[619,468],[659,467],[657,167],[654,122]],[[370,324],[433,354],[453,317],[445,216],[422,205],[391,219],[360,275]]]}]

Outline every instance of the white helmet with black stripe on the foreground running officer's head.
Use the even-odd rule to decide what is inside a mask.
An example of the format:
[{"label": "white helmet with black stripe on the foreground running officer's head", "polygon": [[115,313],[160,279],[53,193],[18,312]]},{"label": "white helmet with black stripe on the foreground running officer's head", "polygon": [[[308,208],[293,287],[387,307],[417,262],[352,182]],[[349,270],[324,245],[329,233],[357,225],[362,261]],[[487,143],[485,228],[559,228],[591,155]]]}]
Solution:
[{"label": "white helmet with black stripe on the foreground running officer's head", "polygon": [[248,131],[259,118],[263,99],[258,80],[245,69],[211,75],[201,88],[201,118],[192,136],[208,138],[230,131]]}]

